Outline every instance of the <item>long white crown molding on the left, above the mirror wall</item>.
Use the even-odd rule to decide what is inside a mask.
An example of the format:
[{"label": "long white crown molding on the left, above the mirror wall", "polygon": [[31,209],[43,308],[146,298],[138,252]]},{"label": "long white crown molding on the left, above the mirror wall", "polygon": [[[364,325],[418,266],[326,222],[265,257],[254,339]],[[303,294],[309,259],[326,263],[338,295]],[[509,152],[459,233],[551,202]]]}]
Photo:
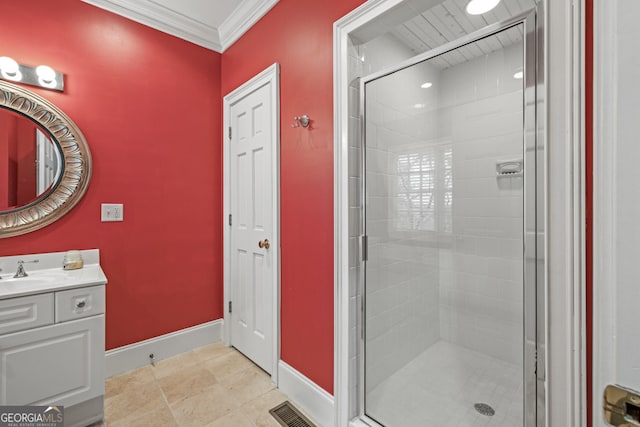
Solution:
[{"label": "long white crown molding on the left, above the mirror wall", "polygon": [[222,52],[217,28],[150,0],[82,1],[215,52]]}]

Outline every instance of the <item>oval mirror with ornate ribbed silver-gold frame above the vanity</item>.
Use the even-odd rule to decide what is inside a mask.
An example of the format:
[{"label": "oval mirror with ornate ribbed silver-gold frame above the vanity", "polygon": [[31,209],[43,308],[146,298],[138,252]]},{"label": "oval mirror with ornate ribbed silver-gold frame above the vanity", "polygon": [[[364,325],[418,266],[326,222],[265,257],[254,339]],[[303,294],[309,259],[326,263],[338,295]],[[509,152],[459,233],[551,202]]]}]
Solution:
[{"label": "oval mirror with ornate ribbed silver-gold frame above the vanity", "polygon": [[91,152],[55,105],[0,81],[0,238],[38,230],[80,201]]}]

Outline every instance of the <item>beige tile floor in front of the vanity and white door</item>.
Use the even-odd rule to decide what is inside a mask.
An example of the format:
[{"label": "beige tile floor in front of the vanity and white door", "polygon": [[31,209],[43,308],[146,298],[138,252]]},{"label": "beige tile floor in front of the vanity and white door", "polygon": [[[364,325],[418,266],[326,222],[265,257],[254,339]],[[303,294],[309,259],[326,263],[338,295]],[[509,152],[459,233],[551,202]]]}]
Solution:
[{"label": "beige tile floor in front of the vanity and white door", "polygon": [[107,379],[105,419],[92,427],[279,427],[287,400],[271,377],[222,343]]}]

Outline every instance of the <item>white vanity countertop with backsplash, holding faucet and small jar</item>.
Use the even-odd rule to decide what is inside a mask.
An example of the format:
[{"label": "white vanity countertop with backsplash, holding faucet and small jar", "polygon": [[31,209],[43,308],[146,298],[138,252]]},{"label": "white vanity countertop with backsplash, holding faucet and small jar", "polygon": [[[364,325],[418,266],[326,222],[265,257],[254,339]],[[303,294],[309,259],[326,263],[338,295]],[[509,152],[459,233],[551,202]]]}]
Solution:
[{"label": "white vanity countertop with backsplash, holding faucet and small jar", "polygon": [[[84,267],[77,270],[63,270],[64,252],[0,257],[0,300],[61,291],[83,286],[105,285],[107,277],[100,268],[97,249],[81,251]],[[37,259],[37,264],[24,264],[27,277],[13,278],[18,260],[25,262]],[[15,265],[15,268],[13,267]]]}]

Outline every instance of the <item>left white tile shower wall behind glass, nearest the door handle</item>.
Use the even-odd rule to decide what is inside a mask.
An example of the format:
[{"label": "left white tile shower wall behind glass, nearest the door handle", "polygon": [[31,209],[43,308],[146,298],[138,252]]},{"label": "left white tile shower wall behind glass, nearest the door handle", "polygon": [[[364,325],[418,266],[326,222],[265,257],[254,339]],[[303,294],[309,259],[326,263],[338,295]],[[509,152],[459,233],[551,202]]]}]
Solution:
[{"label": "left white tile shower wall behind glass, nearest the door handle", "polygon": [[[433,88],[423,89],[425,82]],[[440,338],[434,230],[407,226],[403,159],[435,153],[438,71],[428,64],[372,81],[366,102],[367,392]]]}]

